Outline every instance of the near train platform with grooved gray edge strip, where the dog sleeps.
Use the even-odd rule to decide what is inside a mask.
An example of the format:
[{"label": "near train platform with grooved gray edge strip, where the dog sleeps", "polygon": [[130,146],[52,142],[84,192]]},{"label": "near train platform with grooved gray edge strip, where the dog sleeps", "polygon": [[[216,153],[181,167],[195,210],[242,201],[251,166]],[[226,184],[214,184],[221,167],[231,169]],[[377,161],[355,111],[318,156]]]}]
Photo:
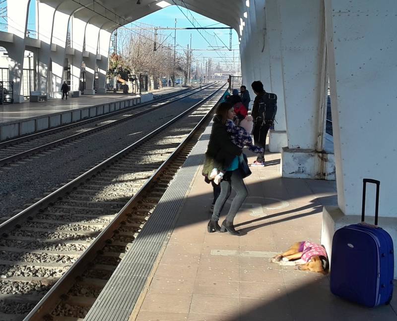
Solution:
[{"label": "near train platform with grooved gray edge strip, where the dog sleeps", "polygon": [[335,182],[282,178],[280,154],[266,155],[245,179],[241,235],[208,233],[212,187],[201,166],[209,134],[210,126],[85,321],[397,320],[396,297],[360,307],[331,294],[329,275],[269,262],[296,241],[320,243],[322,208],[336,205]]}]

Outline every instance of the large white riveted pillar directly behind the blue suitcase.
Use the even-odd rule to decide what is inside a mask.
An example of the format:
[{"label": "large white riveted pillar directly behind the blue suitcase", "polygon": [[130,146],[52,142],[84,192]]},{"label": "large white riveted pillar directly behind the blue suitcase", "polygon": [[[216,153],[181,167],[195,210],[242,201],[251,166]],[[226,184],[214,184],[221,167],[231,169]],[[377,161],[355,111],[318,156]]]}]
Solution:
[{"label": "large white riveted pillar directly behind the blue suitcase", "polygon": [[[327,0],[325,12],[338,207],[324,208],[322,243],[331,254],[334,231],[361,220],[362,179],[373,178],[381,181],[379,225],[396,253],[397,2]],[[371,186],[368,216],[374,202]]]}]

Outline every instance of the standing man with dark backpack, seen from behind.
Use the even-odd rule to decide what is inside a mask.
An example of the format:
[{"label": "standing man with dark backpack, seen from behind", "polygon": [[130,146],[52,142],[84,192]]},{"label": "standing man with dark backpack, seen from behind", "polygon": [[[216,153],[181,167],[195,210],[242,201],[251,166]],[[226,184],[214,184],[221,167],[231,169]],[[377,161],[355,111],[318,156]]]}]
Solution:
[{"label": "standing man with dark backpack, seen from behind", "polygon": [[264,152],[258,154],[251,166],[265,166],[265,145],[267,132],[273,126],[274,118],[277,112],[277,95],[266,93],[264,85],[257,80],[252,83],[252,90],[255,97],[254,106],[251,115],[254,118],[254,143],[255,146],[263,147]]}]

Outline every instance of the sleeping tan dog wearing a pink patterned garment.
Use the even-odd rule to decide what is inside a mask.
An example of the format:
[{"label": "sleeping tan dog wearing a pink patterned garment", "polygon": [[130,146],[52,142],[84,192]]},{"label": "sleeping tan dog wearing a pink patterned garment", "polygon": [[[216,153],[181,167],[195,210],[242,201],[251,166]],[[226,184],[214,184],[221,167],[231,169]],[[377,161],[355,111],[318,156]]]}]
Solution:
[{"label": "sleeping tan dog wearing a pink patterned garment", "polygon": [[330,268],[327,252],[322,245],[309,241],[301,241],[292,246],[282,254],[276,255],[271,262],[293,261],[298,269],[327,274]]}]

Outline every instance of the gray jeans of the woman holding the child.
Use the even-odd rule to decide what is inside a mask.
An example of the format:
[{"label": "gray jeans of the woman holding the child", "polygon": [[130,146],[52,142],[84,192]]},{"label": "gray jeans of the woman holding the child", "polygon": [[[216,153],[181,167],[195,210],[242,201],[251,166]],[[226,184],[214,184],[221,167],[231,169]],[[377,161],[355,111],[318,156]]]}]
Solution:
[{"label": "gray jeans of the woman holding the child", "polygon": [[229,198],[232,189],[236,192],[236,196],[234,197],[232,204],[230,205],[229,213],[226,215],[226,220],[228,222],[233,222],[237,211],[240,209],[244,200],[248,196],[247,188],[245,187],[243,178],[241,177],[240,171],[238,169],[233,170],[230,181],[221,181],[220,194],[219,197],[216,199],[214,212],[211,219],[216,221],[219,219],[220,211],[223,208],[223,205],[226,203],[227,199]]}]

